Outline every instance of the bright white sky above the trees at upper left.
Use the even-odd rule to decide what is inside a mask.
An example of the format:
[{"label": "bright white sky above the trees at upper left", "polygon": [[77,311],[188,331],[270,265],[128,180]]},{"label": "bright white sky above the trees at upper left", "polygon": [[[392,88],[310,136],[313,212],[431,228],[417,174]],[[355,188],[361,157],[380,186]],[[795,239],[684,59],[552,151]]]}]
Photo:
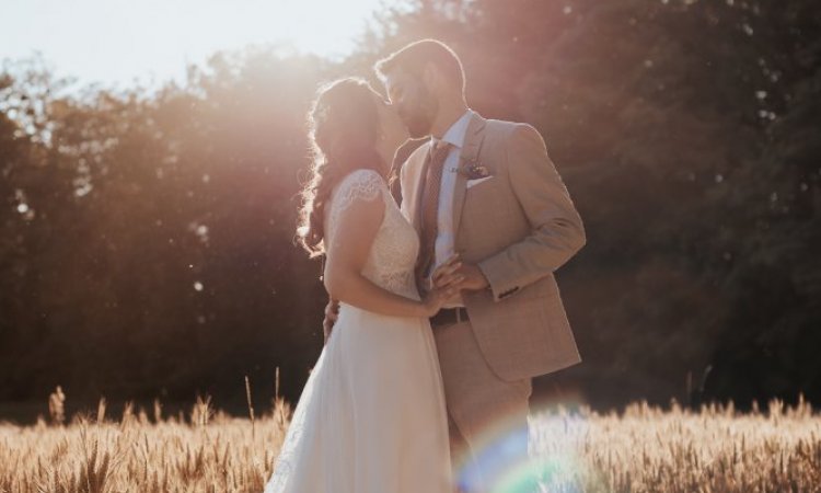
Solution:
[{"label": "bright white sky above the trees at upper left", "polygon": [[0,0],[0,59],[38,50],[80,84],[184,80],[221,49],[288,43],[324,56],[349,53],[381,0]]}]

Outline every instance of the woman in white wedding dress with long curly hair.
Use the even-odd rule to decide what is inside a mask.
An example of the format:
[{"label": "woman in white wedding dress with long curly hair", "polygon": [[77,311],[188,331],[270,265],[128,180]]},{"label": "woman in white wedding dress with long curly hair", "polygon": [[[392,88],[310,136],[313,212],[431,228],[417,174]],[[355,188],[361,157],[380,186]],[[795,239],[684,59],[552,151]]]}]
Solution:
[{"label": "woman in white wedding dress with long curly hair", "polygon": [[385,182],[407,133],[367,82],[323,88],[310,123],[315,162],[298,238],[312,256],[325,255],[325,288],[340,309],[265,493],[449,493],[444,394],[428,318],[458,289],[459,263],[435,273],[455,287],[419,297],[419,240]]}]

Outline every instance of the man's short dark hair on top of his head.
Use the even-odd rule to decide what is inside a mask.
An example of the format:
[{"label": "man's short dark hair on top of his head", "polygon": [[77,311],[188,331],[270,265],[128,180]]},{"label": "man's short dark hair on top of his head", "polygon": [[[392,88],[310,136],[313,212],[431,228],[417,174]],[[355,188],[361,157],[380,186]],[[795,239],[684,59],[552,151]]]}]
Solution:
[{"label": "man's short dark hair on top of his head", "polygon": [[421,77],[426,64],[433,64],[464,93],[464,69],[462,61],[450,46],[438,39],[421,39],[388,55],[373,66],[377,76],[384,81],[393,72],[404,71]]}]

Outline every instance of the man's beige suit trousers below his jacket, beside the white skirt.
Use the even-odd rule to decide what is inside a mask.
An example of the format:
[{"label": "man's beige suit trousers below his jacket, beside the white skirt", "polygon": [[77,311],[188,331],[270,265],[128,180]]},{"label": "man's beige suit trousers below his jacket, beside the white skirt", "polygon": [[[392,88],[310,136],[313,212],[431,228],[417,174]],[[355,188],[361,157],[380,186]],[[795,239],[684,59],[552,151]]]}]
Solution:
[{"label": "man's beige suit trousers below his jacket, beside the white skirt", "polygon": [[456,491],[489,491],[506,471],[528,460],[532,379],[499,378],[483,356],[470,321],[435,326],[433,336]]}]

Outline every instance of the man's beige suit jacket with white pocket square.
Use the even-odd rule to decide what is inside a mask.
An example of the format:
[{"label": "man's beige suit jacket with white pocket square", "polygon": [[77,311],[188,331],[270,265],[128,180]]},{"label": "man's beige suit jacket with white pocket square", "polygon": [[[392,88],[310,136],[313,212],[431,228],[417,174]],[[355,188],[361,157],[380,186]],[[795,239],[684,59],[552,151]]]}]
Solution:
[{"label": "man's beige suit jacket with white pocket square", "polygon": [[[402,211],[417,230],[429,145],[416,149],[401,172]],[[585,244],[585,229],[539,131],[475,114],[460,169],[455,250],[490,284],[463,293],[483,356],[510,381],[579,363],[553,272]],[[493,177],[469,186],[476,170]]]}]

